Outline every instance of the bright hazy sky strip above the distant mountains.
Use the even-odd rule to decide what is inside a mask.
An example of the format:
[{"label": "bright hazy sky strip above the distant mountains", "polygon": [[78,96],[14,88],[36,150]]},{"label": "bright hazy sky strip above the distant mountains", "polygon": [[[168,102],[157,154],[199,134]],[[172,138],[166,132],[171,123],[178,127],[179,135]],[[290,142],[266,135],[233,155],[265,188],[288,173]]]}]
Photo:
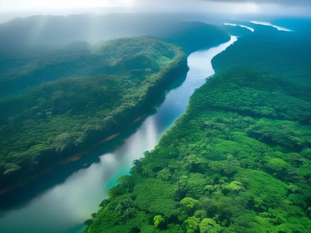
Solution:
[{"label": "bright hazy sky strip above the distant mountains", "polygon": [[[274,3],[274,4],[272,4]],[[311,12],[311,0],[0,0],[0,12],[51,11],[69,8],[142,7],[154,11],[272,13]]]}]

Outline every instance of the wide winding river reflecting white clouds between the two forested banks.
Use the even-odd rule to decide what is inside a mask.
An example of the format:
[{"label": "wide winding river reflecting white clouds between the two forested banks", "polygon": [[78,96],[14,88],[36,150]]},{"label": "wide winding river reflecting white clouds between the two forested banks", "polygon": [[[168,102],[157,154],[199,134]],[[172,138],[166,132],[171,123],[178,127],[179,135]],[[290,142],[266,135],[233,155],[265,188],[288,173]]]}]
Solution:
[{"label": "wide winding river reflecting white clouds between the two forested banks", "polygon": [[63,183],[46,190],[26,207],[1,213],[0,232],[81,232],[83,221],[97,211],[102,199],[107,198],[107,190],[115,185],[120,176],[128,174],[133,160],[154,148],[165,130],[185,112],[194,89],[200,87],[206,77],[214,74],[211,59],[236,39],[232,36],[230,42],[192,53],[188,57],[190,70],[185,82],[166,95],[157,112],[146,118],[138,130],[125,139],[124,144],[114,152],[100,156],[99,162],[80,169]]}]

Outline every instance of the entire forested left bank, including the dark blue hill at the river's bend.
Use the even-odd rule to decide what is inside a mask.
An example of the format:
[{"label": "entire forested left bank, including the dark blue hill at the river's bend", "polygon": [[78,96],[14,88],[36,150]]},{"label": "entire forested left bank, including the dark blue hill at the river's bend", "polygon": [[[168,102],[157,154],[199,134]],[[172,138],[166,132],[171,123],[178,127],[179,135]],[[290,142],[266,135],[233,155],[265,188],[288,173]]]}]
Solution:
[{"label": "entire forested left bank, including the dark blue hill at the river's bend", "polygon": [[[12,36],[38,17],[7,22],[0,30]],[[230,40],[213,25],[174,25],[176,30],[159,29],[157,37],[5,47],[0,55],[1,187],[26,182],[63,157],[121,133],[188,71],[189,53]]]}]

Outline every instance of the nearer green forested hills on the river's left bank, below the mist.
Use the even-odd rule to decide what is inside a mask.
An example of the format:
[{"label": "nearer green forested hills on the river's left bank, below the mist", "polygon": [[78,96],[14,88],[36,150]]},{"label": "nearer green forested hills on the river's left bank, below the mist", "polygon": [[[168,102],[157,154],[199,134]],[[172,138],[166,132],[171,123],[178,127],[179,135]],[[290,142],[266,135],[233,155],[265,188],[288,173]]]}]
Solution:
[{"label": "nearer green forested hills on the river's left bank, below the mist", "polygon": [[[94,144],[94,137],[103,140],[119,133],[146,112],[176,75],[188,71],[179,47],[146,37],[116,39],[92,48],[91,55],[44,62],[31,66],[25,75],[36,82],[76,70],[92,76],[45,82],[25,94],[1,99],[3,186]],[[28,81],[25,76],[14,78]]]}]

